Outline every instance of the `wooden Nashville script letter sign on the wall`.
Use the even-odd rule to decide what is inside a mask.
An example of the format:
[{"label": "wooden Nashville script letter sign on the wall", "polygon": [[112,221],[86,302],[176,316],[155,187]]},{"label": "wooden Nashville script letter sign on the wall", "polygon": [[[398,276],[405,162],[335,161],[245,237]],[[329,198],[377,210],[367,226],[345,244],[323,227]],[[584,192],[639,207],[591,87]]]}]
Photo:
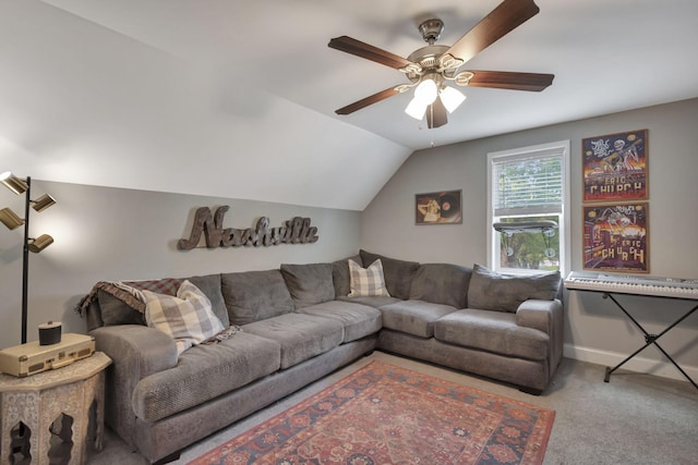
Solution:
[{"label": "wooden Nashville script letter sign on the wall", "polygon": [[255,228],[237,230],[234,228],[222,228],[222,219],[230,207],[224,205],[216,209],[213,215],[210,208],[202,207],[196,209],[194,225],[189,238],[180,238],[177,248],[190,250],[195,248],[204,233],[206,247],[240,247],[241,245],[270,246],[279,244],[312,244],[317,242],[317,228],[310,225],[310,218],[294,217],[285,221],[280,228],[269,229],[269,219],[262,217],[257,220]]}]

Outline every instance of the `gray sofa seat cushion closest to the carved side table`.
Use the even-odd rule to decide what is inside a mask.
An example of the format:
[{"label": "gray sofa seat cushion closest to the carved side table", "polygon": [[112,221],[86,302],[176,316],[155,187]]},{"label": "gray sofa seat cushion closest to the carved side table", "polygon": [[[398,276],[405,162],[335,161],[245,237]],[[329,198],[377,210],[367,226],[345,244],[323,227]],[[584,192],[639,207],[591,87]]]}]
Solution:
[{"label": "gray sofa seat cushion closest to the carved side table", "polygon": [[177,366],[136,384],[133,412],[143,421],[154,423],[270,375],[280,365],[279,343],[245,332],[196,345],[181,355]]}]

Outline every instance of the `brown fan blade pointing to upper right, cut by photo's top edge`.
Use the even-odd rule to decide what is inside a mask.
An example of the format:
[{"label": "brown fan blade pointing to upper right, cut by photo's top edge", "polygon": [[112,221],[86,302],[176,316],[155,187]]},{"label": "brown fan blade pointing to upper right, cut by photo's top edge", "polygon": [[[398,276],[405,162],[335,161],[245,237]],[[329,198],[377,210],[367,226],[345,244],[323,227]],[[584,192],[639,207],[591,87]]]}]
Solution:
[{"label": "brown fan blade pointing to upper right, cut by photo's top edge", "polygon": [[504,0],[458,39],[446,53],[466,62],[535,16],[539,11],[533,0]]}]

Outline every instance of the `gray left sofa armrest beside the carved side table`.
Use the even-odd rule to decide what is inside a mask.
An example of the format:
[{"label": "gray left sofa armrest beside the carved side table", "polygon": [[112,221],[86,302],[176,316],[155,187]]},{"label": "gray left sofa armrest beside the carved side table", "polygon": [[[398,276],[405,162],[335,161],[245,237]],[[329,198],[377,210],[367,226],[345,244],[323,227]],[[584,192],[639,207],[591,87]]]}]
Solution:
[{"label": "gray left sofa armrest beside the carved side table", "polygon": [[105,407],[107,424],[130,445],[135,445],[135,413],[131,396],[143,378],[177,365],[174,340],[141,325],[118,325],[89,332],[97,351],[111,357],[107,369]]}]

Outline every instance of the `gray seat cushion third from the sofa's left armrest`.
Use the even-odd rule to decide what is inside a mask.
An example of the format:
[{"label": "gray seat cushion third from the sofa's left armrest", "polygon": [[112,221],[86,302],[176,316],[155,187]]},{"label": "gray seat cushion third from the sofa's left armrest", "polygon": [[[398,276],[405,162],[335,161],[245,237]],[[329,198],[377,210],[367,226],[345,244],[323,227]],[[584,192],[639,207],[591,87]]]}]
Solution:
[{"label": "gray seat cushion third from the sofa's left armrest", "polygon": [[297,311],[332,318],[341,322],[345,327],[344,342],[357,341],[366,335],[375,334],[382,328],[381,311],[368,305],[332,301],[304,307]]}]

